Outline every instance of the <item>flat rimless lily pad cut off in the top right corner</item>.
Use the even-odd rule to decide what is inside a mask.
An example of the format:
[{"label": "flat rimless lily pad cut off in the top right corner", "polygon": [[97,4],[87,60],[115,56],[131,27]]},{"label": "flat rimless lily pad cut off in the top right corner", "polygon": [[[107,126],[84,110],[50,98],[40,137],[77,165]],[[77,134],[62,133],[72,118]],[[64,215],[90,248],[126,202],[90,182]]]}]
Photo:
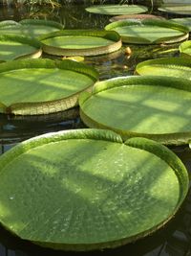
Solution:
[{"label": "flat rimless lily pad cut off in the top right corner", "polygon": [[191,5],[164,5],[159,7],[158,10],[160,12],[168,12],[168,13],[176,13],[181,15],[189,15],[191,13]]}]

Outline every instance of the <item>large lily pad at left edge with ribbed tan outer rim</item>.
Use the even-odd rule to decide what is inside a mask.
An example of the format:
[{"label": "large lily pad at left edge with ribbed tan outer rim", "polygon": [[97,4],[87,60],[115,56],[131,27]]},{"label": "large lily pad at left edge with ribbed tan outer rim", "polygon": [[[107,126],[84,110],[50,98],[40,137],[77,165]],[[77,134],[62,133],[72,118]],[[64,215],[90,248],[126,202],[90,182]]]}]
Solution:
[{"label": "large lily pad at left edge with ribbed tan outer rim", "polygon": [[69,109],[77,105],[78,94],[93,86],[97,78],[94,68],[69,59],[1,63],[0,112],[39,115]]}]

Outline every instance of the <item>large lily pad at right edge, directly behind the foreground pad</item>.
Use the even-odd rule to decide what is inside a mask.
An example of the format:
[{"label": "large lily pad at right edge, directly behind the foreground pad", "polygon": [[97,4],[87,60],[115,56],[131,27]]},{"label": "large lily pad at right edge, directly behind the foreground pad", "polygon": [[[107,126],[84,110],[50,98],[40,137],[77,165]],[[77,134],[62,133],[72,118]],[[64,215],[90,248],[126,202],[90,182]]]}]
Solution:
[{"label": "large lily pad at right edge, directly behind the foreground pad", "polygon": [[144,136],[183,144],[191,138],[191,81],[183,78],[135,76],[100,81],[92,93],[80,95],[79,105],[88,127],[115,130],[124,140]]}]

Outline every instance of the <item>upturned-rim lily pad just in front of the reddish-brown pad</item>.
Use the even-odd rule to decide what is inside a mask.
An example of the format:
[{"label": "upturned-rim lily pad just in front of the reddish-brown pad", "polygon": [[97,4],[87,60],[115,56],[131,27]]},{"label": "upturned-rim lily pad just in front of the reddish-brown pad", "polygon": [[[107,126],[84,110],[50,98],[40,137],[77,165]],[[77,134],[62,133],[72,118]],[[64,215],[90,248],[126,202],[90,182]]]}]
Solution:
[{"label": "upturned-rim lily pad just in front of the reddish-brown pad", "polygon": [[120,20],[108,24],[106,30],[116,31],[122,41],[138,44],[173,43],[188,38],[189,30],[168,20]]}]

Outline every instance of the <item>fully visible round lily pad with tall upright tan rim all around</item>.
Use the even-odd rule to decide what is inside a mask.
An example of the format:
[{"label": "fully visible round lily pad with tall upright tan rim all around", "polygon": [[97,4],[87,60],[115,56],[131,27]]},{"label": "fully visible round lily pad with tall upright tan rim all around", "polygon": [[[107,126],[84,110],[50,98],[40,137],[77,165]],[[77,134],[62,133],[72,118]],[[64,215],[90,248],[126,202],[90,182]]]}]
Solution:
[{"label": "fully visible round lily pad with tall upright tan rim all around", "polygon": [[43,51],[56,56],[96,56],[109,54],[121,47],[116,32],[64,30],[41,36]]}]

